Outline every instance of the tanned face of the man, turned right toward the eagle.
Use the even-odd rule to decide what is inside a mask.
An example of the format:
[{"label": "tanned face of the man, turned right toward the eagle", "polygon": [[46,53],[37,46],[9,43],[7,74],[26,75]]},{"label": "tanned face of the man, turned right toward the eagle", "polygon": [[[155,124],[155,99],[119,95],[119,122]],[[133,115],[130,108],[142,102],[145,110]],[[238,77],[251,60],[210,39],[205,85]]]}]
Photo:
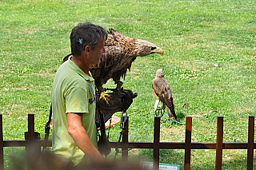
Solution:
[{"label": "tanned face of the man, turned right toward the eagle", "polygon": [[91,49],[90,59],[91,59],[93,65],[98,64],[98,62],[100,61],[100,58],[102,57],[102,53],[106,52],[104,49],[104,44],[105,44],[105,40],[101,38],[98,45],[95,46],[94,49]]}]

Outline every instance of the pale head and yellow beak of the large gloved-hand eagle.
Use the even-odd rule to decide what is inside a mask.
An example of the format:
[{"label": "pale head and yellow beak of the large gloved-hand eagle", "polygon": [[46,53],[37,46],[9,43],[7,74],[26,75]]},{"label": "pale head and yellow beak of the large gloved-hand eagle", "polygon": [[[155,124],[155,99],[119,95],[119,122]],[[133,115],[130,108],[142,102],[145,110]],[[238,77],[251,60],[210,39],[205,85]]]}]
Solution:
[{"label": "pale head and yellow beak of the large gloved-hand eagle", "polygon": [[138,56],[143,57],[152,53],[163,54],[163,50],[151,42],[147,42],[141,39],[136,39],[134,53],[136,53]]}]

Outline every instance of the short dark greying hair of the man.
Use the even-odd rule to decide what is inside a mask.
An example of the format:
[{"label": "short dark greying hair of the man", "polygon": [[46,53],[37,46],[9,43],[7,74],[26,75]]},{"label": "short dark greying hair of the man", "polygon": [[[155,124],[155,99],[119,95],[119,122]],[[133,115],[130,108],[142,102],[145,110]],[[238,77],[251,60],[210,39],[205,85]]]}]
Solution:
[{"label": "short dark greying hair of the man", "polygon": [[98,45],[100,39],[106,40],[107,32],[102,26],[90,22],[79,23],[70,34],[71,53],[78,57],[85,50],[86,45],[92,49]]}]

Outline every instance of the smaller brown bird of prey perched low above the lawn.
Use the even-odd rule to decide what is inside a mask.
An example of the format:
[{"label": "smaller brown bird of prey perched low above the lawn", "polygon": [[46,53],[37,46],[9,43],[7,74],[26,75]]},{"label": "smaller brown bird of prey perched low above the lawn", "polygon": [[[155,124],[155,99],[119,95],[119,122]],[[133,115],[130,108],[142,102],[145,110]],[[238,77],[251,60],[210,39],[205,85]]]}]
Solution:
[{"label": "smaller brown bird of prey perched low above the lawn", "polygon": [[162,101],[164,109],[165,106],[167,106],[167,113],[170,120],[172,117],[177,119],[174,109],[174,98],[170,90],[170,85],[164,78],[162,69],[157,70],[156,77],[152,81],[152,87],[154,89],[154,93],[158,96],[159,100]]}]

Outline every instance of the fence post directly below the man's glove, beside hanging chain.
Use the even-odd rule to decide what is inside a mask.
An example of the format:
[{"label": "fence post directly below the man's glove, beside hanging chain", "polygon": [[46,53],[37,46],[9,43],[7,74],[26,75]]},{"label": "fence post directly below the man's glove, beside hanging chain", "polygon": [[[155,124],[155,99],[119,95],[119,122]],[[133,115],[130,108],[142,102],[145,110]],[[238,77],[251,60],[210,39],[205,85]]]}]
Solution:
[{"label": "fence post directly below the man's glove, beside hanging chain", "polygon": [[129,117],[122,116],[122,120],[125,120],[124,131],[122,134],[122,161],[128,161],[128,125],[129,125]]}]

